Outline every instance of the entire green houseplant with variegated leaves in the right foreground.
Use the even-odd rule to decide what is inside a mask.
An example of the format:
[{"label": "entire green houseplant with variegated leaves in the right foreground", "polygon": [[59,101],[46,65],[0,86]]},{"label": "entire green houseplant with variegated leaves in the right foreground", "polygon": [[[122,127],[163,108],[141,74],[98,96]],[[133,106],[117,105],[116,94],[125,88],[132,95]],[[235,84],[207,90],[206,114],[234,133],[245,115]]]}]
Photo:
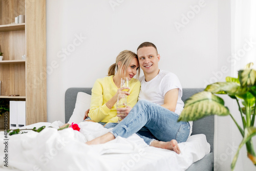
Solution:
[{"label": "entire green houseplant with variegated leaves in the right foreground", "polygon": [[[253,148],[252,137],[256,135],[255,120],[255,98],[256,98],[256,71],[252,69],[253,63],[249,63],[244,70],[238,72],[238,78],[226,77],[226,82],[209,84],[203,92],[199,92],[185,101],[184,110],[178,121],[198,120],[208,115],[229,115],[237,125],[243,140],[231,163],[231,169],[236,165],[239,151],[246,144],[247,157],[256,166],[256,154]],[[237,101],[239,113],[243,125],[240,126],[233,118],[224,100],[215,94],[226,94]],[[242,105],[240,104],[242,102]]]}]

